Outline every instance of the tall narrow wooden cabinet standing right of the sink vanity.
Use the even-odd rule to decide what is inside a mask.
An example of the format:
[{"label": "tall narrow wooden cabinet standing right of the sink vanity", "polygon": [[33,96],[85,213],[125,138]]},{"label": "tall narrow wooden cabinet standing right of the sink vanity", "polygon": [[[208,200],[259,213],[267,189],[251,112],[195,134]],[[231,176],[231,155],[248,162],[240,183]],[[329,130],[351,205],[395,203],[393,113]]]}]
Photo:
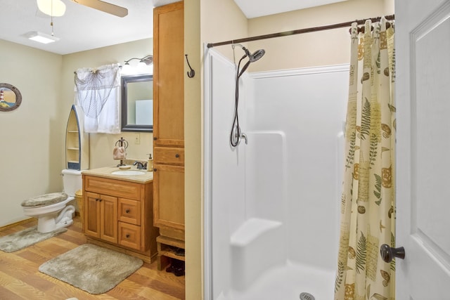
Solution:
[{"label": "tall narrow wooden cabinet standing right of the sink vanity", "polygon": [[169,246],[184,249],[184,2],[155,8],[153,22],[153,211],[162,268]]}]

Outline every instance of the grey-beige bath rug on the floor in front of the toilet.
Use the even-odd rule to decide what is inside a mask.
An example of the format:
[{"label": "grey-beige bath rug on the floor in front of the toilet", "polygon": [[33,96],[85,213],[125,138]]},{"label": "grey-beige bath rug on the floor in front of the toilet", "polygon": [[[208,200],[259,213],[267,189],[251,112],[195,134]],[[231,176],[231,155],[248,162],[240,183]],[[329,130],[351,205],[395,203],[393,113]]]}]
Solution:
[{"label": "grey-beige bath rug on the floor in front of the toilet", "polygon": [[5,235],[0,237],[0,250],[3,252],[15,252],[26,247],[30,247],[32,244],[48,240],[50,237],[54,237],[61,233],[65,233],[68,228],[59,228],[49,233],[39,233],[37,226],[27,228],[17,233],[11,233],[11,235]]}]

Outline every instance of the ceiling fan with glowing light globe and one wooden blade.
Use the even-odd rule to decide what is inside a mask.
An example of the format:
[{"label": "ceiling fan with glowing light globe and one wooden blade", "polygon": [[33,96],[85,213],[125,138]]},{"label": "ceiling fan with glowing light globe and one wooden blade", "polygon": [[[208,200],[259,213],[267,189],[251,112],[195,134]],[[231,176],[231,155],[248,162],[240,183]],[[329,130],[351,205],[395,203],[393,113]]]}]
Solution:
[{"label": "ceiling fan with glowing light globe and one wooden blade", "polygon": [[[115,4],[110,4],[101,0],[71,0],[77,4],[88,6],[90,8],[97,9],[98,11],[104,11],[111,15],[117,15],[117,17],[123,18],[128,15],[128,9]],[[59,17],[65,13],[65,4],[61,0],[37,0],[37,7],[39,11],[46,15],[53,17]]]}]

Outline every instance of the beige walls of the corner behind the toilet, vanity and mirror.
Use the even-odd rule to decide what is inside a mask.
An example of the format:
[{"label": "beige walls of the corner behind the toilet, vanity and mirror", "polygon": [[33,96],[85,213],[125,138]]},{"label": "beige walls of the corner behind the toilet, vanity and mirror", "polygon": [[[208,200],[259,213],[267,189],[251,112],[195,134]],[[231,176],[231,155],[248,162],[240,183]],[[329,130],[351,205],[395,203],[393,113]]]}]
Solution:
[{"label": "beige walls of the corner behind the toilet, vanity and mirror", "polygon": [[[20,203],[27,197],[63,189],[65,127],[74,97],[74,71],[123,63],[153,54],[153,39],[143,39],[66,56],[0,40],[1,82],[22,93],[22,105],[0,112],[0,226],[27,219]],[[90,168],[117,164],[115,142],[129,141],[127,157],[146,160],[153,152],[153,134],[91,134]]]}]

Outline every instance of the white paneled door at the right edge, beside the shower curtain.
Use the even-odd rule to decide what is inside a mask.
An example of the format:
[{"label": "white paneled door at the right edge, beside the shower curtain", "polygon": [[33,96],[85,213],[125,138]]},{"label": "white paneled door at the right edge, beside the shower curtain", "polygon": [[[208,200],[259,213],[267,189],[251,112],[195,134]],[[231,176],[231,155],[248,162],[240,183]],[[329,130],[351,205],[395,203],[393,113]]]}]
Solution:
[{"label": "white paneled door at the right edge, beside the shower curtain", "polygon": [[396,0],[397,300],[450,299],[450,1]]}]

